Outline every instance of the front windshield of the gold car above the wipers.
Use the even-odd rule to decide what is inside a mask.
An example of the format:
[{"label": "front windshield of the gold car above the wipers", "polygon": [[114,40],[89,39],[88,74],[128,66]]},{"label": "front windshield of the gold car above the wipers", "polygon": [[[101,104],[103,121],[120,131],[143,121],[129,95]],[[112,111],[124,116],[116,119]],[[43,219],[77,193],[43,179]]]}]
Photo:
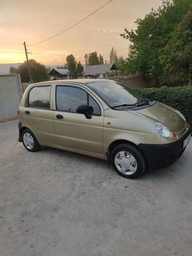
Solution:
[{"label": "front windshield of the gold car above the wipers", "polygon": [[85,84],[111,107],[135,105],[138,102],[145,101],[137,92],[112,80],[94,81]]}]

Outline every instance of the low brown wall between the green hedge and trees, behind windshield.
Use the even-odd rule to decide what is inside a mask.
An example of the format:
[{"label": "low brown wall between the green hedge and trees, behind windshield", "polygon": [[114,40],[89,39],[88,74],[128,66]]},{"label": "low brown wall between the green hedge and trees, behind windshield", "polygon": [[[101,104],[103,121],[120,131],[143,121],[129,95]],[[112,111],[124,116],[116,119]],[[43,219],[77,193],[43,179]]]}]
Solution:
[{"label": "low brown wall between the green hedge and trees, behind windshield", "polygon": [[181,78],[177,76],[152,77],[150,75],[130,75],[111,76],[107,79],[115,80],[116,82],[129,86],[130,88],[158,88],[163,85],[177,86],[186,84]]}]

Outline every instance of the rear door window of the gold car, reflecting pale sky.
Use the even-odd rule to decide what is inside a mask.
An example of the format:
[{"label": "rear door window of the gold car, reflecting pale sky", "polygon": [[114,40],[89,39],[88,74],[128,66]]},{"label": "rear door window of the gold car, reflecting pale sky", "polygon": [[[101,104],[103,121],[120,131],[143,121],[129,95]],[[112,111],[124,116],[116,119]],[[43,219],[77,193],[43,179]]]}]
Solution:
[{"label": "rear door window of the gold car, reflecting pale sky", "polygon": [[50,109],[51,86],[37,86],[29,92],[29,107]]}]

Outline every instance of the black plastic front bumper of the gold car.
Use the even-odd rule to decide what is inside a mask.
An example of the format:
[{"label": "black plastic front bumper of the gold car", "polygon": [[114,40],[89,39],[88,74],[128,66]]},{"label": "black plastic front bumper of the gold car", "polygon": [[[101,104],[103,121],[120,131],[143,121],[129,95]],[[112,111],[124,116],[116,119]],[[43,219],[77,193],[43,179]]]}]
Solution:
[{"label": "black plastic front bumper of the gold car", "polygon": [[147,159],[149,169],[164,168],[172,165],[184,152],[183,141],[189,134],[190,131],[180,140],[169,144],[139,144],[138,146]]}]

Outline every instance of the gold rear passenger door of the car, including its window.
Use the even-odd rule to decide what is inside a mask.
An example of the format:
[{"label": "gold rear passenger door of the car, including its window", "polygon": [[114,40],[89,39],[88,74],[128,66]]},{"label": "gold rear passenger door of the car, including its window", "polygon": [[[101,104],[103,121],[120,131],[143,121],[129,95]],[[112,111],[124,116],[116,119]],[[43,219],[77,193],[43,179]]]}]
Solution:
[{"label": "gold rear passenger door of the car, including its window", "polygon": [[23,117],[37,137],[46,143],[56,143],[52,119],[51,85],[33,86],[25,98]]}]

